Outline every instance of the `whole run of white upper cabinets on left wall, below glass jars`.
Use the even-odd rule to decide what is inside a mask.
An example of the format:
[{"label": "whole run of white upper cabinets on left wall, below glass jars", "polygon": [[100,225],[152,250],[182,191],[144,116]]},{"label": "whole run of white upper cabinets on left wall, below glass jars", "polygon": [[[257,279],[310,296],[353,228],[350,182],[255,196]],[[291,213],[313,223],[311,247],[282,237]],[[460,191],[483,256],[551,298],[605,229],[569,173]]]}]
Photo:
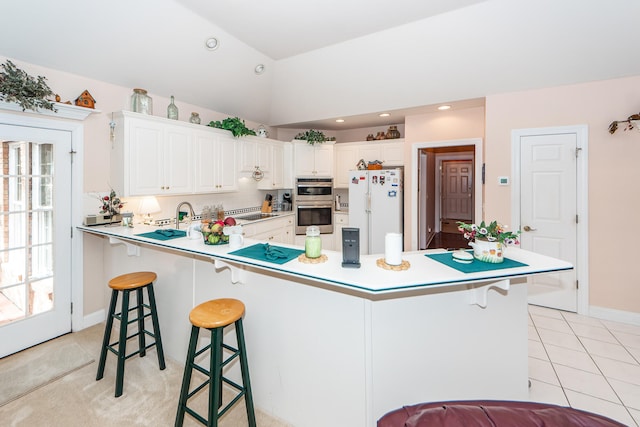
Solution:
[{"label": "whole run of white upper cabinets on left wall, below glass jars", "polygon": [[115,123],[111,185],[124,197],[237,190],[231,133],[129,111]]}]

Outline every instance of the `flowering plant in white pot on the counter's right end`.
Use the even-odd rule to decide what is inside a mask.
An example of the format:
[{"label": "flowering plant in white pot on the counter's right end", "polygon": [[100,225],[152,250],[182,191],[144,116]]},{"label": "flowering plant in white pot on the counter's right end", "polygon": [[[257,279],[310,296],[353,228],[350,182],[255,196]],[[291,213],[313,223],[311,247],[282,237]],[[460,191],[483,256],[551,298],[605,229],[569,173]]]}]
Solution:
[{"label": "flowering plant in white pot on the counter's right end", "polygon": [[479,261],[493,264],[504,261],[502,252],[505,245],[518,244],[519,231],[506,231],[505,226],[497,221],[489,225],[484,221],[480,225],[458,221],[458,230],[464,233],[473,248],[473,257]]}]

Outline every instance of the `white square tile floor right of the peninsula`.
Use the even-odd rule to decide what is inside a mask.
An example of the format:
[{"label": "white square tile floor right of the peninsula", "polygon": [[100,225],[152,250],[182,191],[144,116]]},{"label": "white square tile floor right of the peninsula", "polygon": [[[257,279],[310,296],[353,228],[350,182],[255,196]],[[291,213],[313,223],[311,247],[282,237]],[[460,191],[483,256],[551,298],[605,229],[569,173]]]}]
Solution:
[{"label": "white square tile floor right of the peninsula", "polygon": [[529,399],[640,427],[640,326],[529,306]]}]

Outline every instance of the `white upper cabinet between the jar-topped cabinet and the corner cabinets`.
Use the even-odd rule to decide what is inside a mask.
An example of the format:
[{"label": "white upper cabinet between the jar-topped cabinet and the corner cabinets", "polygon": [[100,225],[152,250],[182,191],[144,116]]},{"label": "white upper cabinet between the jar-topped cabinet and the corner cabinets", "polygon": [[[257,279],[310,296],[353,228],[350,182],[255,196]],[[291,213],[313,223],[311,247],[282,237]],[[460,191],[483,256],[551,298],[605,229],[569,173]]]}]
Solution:
[{"label": "white upper cabinet between the jar-topped cabinet and the corner cabinets", "polygon": [[195,131],[195,193],[223,193],[238,189],[237,141],[231,136]]}]

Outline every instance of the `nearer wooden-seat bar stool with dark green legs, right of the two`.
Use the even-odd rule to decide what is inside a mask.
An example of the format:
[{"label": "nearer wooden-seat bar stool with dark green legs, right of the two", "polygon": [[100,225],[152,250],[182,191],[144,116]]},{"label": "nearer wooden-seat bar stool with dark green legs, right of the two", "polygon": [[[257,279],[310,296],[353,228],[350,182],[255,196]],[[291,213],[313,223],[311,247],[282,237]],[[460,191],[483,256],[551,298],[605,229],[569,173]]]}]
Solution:
[{"label": "nearer wooden-seat bar stool with dark green legs, right of the two", "polygon": [[[178,413],[176,415],[176,426],[182,426],[185,412],[206,426],[217,426],[219,417],[224,415],[231,406],[244,396],[249,426],[255,427],[256,417],[253,409],[253,397],[251,395],[251,384],[249,382],[249,366],[247,364],[244,331],[242,328],[243,315],[244,304],[241,301],[230,298],[207,301],[191,310],[189,314],[189,320],[192,324],[191,339],[189,340],[187,361],[184,366],[184,377],[182,379],[182,390],[180,392],[180,402],[178,403]],[[223,342],[224,328],[232,323],[236,329],[238,348],[233,348]],[[201,350],[196,351],[200,328],[211,331],[211,343]],[[195,363],[195,358],[207,350],[210,350],[209,370]],[[232,352],[225,360],[222,360],[223,350]],[[242,385],[225,378],[222,372],[223,368],[236,357],[240,359]],[[194,369],[205,374],[208,379],[194,388],[192,392],[189,392],[191,374]],[[220,410],[222,406],[223,381],[235,388],[238,394]],[[207,385],[209,386],[209,413],[208,418],[205,419],[187,406],[187,400]]]}]

